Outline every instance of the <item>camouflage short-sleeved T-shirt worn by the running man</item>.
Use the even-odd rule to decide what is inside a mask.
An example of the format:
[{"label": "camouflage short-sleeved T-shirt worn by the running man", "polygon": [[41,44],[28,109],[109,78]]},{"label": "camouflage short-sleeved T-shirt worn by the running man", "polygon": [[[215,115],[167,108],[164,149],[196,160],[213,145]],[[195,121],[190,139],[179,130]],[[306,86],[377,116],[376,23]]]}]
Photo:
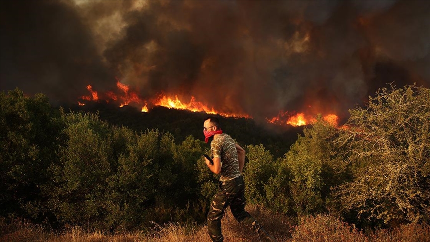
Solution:
[{"label": "camouflage short-sleeved T-shirt worn by the running man", "polygon": [[211,142],[211,154],[221,159],[221,177],[219,181],[228,181],[239,177],[239,159],[234,140],[225,133],[215,134]]}]

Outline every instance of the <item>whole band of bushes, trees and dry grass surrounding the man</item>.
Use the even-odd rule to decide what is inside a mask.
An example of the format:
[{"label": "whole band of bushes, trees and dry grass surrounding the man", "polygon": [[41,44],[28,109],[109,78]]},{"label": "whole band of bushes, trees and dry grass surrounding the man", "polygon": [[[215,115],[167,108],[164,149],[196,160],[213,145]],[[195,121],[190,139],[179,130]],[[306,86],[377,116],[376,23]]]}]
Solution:
[{"label": "whole band of bushes, trees and dry grass surrounding the man", "polygon": [[[170,131],[130,128],[18,89],[1,93],[0,105],[1,240],[208,240],[203,222],[217,176],[202,157],[209,146],[184,136],[182,118],[172,119]],[[317,117],[291,147],[286,142],[283,156],[271,152],[284,149],[282,139],[265,144],[270,149],[255,144],[247,138],[258,129],[236,120],[247,152],[248,208],[280,241],[423,241],[430,90],[390,86],[350,114],[342,127]],[[255,239],[223,228],[234,241]],[[82,238],[83,231],[99,239]]]}]

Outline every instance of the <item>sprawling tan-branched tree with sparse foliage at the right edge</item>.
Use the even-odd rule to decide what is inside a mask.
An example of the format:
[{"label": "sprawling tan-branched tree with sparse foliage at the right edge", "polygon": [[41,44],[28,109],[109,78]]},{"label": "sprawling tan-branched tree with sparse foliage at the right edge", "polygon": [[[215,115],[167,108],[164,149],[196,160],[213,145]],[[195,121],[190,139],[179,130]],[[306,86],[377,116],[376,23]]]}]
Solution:
[{"label": "sprawling tan-branched tree with sparse foliage at the right edge", "polygon": [[354,180],[339,187],[339,201],[365,219],[429,222],[430,90],[383,88],[350,114],[339,140]]}]

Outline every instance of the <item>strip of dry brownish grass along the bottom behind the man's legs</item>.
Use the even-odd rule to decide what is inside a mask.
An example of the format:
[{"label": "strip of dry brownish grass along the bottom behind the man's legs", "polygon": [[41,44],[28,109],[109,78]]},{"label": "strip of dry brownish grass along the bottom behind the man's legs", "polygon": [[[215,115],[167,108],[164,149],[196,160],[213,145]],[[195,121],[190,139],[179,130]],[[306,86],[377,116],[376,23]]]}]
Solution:
[{"label": "strip of dry brownish grass along the bottom behind the man's legs", "polygon": [[[329,215],[306,216],[298,226],[277,213],[255,205],[247,211],[279,242],[430,242],[428,225],[404,225],[393,230],[380,230],[363,235],[353,226]],[[222,219],[225,242],[258,242],[256,234],[240,226],[226,211]],[[134,232],[109,235],[101,232],[88,233],[80,227],[65,229],[54,234],[39,225],[14,221],[6,224],[0,219],[1,242],[211,242],[206,226],[183,226],[179,224],[156,225],[148,233]]]}]

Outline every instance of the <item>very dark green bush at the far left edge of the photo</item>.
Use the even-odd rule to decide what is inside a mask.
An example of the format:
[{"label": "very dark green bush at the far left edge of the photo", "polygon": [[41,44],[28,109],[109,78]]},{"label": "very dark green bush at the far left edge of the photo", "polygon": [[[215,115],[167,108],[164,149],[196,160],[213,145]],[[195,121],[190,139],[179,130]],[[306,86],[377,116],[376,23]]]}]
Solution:
[{"label": "very dark green bush at the far left edge of the photo", "polygon": [[63,125],[45,95],[0,93],[0,216],[50,217],[41,187],[49,181],[47,168],[58,162]]}]

